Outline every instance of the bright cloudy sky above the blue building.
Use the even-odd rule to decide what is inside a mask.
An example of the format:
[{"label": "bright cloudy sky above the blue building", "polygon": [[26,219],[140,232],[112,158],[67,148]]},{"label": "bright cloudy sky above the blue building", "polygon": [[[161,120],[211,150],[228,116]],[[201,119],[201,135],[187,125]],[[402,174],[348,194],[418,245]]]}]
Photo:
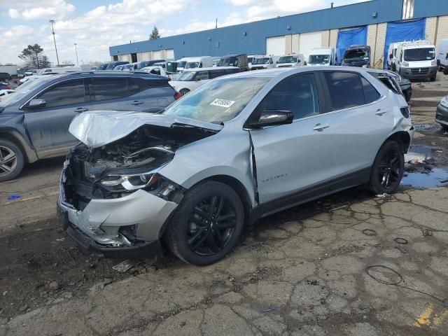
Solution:
[{"label": "bright cloudy sky above the blue building", "polygon": [[59,62],[107,61],[109,46],[343,6],[367,0],[0,0],[0,64],[21,64],[38,43],[56,63],[48,20],[55,20]]}]

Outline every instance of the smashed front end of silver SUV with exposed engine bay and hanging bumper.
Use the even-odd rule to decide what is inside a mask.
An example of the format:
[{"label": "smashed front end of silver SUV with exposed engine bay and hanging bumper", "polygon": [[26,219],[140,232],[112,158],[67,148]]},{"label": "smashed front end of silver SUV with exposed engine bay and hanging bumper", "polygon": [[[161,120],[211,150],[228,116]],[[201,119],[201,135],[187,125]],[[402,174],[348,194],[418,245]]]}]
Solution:
[{"label": "smashed front end of silver SUV with exposed engine bay and hanging bumper", "polygon": [[64,162],[59,221],[97,255],[158,253],[161,229],[185,192],[159,172],[181,146],[212,134],[185,125],[145,124],[111,144],[79,144]]}]

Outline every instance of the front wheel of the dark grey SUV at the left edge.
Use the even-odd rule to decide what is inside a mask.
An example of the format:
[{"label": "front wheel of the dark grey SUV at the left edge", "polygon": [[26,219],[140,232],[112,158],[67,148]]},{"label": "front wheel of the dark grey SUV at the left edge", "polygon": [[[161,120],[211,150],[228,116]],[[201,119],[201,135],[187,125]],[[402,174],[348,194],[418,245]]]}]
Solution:
[{"label": "front wheel of the dark grey SUV at the left edge", "polygon": [[12,141],[0,139],[0,182],[15,179],[25,165],[20,148]]}]

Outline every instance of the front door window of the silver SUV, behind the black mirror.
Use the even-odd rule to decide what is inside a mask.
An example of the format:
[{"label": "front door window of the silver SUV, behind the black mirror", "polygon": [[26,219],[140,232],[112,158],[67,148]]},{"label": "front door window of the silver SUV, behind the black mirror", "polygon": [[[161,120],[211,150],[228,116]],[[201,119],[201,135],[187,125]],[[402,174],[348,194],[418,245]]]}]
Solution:
[{"label": "front door window of the silver SUV, behind the black mirror", "polygon": [[316,80],[313,73],[282,80],[267,94],[259,109],[291,111],[294,119],[319,114]]}]

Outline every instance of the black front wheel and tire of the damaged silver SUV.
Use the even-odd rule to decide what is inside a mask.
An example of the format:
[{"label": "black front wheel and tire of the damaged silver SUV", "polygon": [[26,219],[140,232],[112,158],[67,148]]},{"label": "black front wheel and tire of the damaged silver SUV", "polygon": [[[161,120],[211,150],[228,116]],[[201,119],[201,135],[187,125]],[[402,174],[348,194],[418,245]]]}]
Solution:
[{"label": "black front wheel and tire of the damaged silver SUV", "polygon": [[169,249],[193,265],[210,265],[237,245],[244,207],[230,186],[206,181],[184,195],[167,228]]}]

